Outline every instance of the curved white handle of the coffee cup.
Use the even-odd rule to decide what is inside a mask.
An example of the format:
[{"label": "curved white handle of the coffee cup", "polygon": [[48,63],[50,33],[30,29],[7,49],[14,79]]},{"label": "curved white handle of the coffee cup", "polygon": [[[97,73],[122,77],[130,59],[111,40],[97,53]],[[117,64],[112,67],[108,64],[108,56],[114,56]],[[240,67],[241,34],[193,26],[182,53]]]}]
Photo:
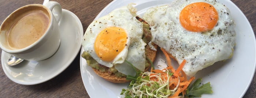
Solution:
[{"label": "curved white handle of the coffee cup", "polygon": [[59,3],[57,3],[56,1],[49,1],[48,3],[45,4],[45,6],[47,8],[49,8],[49,10],[52,11],[52,14],[54,15],[55,19],[59,23],[60,18],[62,16],[62,7],[61,7],[61,5]]}]

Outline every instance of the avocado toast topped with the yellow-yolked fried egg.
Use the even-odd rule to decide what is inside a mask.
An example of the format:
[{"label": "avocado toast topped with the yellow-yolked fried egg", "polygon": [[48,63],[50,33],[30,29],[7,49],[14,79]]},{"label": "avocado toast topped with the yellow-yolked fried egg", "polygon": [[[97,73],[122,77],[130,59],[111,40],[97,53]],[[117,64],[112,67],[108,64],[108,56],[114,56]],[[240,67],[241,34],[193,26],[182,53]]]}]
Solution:
[{"label": "avocado toast topped with the yellow-yolked fried egg", "polygon": [[125,83],[126,76],[144,72],[156,57],[156,45],[151,41],[149,25],[136,15],[129,4],[117,8],[87,28],[82,41],[82,57],[95,73],[113,83]]}]

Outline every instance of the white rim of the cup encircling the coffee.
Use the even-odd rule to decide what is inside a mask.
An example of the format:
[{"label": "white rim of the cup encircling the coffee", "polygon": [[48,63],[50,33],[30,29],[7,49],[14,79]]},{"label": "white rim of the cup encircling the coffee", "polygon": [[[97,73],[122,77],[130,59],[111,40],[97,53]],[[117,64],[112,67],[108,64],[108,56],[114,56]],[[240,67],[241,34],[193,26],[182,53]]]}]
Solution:
[{"label": "white rim of the cup encircling the coffee", "polygon": [[[25,48],[22,48],[22,49],[14,49],[14,50],[8,49],[8,48],[6,48],[6,47],[2,44],[2,42],[0,41],[0,48],[1,48],[2,50],[4,50],[5,52],[7,52],[7,53],[21,53],[21,52],[24,52],[24,51],[26,51],[26,50],[32,48],[33,46],[37,45],[37,44],[49,33],[49,29],[52,27],[52,24],[53,24],[52,12],[51,12],[45,5],[42,5],[42,4],[29,4],[29,5],[25,5],[25,6],[23,6],[23,7],[20,7],[20,8],[18,8],[18,9],[16,9],[15,11],[13,11],[10,15],[8,15],[8,16],[4,19],[3,23],[1,24],[1,26],[0,26],[0,33],[1,33],[2,25],[7,22],[8,18],[10,18],[13,14],[15,14],[16,12],[18,12],[19,10],[22,10],[22,9],[24,9],[24,8],[29,8],[29,7],[41,7],[41,8],[43,8],[43,9],[47,10],[47,12],[48,12],[48,14],[49,14],[49,18],[50,18],[50,19],[49,19],[50,22],[49,22],[49,25],[48,25],[48,27],[47,27],[47,30],[45,31],[45,33],[44,33],[39,39],[37,39],[37,41],[35,41],[35,42],[32,43],[31,45],[26,46]],[[5,32],[6,32],[6,31],[5,31]],[[5,33],[5,32],[4,32],[4,33]]]}]

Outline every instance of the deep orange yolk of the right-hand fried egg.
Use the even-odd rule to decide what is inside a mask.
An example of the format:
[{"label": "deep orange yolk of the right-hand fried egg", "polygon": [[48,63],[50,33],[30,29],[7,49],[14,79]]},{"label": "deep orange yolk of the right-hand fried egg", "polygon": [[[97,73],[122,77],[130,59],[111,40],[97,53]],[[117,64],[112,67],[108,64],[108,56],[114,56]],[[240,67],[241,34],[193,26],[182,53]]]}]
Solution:
[{"label": "deep orange yolk of the right-hand fried egg", "polygon": [[211,30],[217,20],[218,12],[212,5],[204,2],[189,4],[179,14],[182,27],[193,32]]}]

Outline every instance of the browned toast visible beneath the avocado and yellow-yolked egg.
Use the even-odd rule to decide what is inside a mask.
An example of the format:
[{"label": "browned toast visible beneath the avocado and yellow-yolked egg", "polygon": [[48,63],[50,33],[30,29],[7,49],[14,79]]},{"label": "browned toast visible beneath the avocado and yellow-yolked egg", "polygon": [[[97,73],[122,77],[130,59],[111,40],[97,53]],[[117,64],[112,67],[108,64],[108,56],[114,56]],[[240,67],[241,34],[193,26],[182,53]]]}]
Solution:
[{"label": "browned toast visible beneath the avocado and yellow-yolked egg", "polygon": [[[155,49],[157,49],[156,44],[154,44],[153,46],[155,47]],[[146,57],[148,57],[149,60],[151,60],[152,62],[155,61],[155,59],[156,59],[156,51],[155,50],[151,50],[149,45],[146,45],[145,52],[146,52],[145,55],[146,55]],[[146,61],[148,61],[148,60],[146,60]],[[151,66],[145,68],[145,71],[147,71],[150,67]],[[108,72],[101,72],[94,68],[92,68],[92,69],[97,75],[99,75],[101,78],[103,78],[109,82],[126,83],[126,82],[130,81],[130,80],[126,80],[126,77],[119,78],[119,77],[115,76],[114,74],[109,75]]]}]

